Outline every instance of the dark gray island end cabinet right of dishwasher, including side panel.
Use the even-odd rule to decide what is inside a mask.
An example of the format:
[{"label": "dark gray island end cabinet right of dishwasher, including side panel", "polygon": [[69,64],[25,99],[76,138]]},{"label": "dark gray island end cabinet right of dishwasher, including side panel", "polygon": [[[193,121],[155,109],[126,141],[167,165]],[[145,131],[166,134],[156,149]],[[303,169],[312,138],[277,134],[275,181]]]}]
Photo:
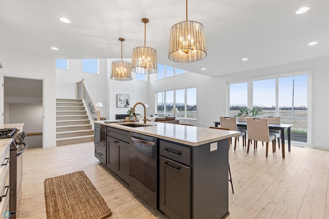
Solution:
[{"label": "dark gray island end cabinet right of dishwasher, including side panel", "polygon": [[160,140],[159,210],[172,219],[227,217],[227,145],[228,139],[212,147]]}]

